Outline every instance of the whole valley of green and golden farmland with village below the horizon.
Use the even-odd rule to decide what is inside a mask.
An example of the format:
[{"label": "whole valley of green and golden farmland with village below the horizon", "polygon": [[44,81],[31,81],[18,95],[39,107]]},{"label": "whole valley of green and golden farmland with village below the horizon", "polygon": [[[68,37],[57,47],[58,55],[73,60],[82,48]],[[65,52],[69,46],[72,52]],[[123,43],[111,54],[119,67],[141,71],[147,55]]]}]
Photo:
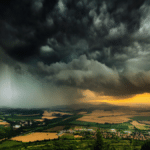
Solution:
[{"label": "whole valley of green and golden farmland with village below the horizon", "polygon": [[[89,113],[72,113],[43,110],[43,113],[7,113],[7,116],[3,112],[2,117],[4,120],[1,119],[1,122],[8,121],[10,127],[0,126],[0,138],[3,139],[0,149],[16,149],[16,146],[18,149],[56,148],[63,140],[61,144],[64,147],[68,144],[66,149],[74,147],[90,150],[97,129],[101,130],[106,145],[115,146],[118,150],[130,147],[131,138],[135,140],[134,147],[140,150],[144,139],[149,138],[149,128],[139,122],[143,121],[143,116],[135,111],[93,110]],[[147,120],[148,117],[145,116]],[[14,126],[17,124],[21,126],[16,129]],[[137,143],[137,140],[140,142]]]}]

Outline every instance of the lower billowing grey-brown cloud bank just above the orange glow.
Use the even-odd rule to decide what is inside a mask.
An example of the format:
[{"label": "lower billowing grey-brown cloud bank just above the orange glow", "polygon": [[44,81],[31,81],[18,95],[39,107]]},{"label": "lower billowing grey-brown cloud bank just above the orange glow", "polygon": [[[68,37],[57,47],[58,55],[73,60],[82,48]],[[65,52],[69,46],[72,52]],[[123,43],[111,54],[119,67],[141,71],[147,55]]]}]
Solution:
[{"label": "lower billowing grey-brown cloud bank just above the orange glow", "polygon": [[82,55],[68,64],[56,63],[47,66],[40,62],[38,67],[47,73],[45,78],[48,81],[58,85],[89,89],[100,94],[123,98],[150,92],[150,72],[135,72],[135,66],[130,66],[131,70],[126,69],[125,72],[119,73],[115,68],[111,69],[98,61],[88,60]]}]

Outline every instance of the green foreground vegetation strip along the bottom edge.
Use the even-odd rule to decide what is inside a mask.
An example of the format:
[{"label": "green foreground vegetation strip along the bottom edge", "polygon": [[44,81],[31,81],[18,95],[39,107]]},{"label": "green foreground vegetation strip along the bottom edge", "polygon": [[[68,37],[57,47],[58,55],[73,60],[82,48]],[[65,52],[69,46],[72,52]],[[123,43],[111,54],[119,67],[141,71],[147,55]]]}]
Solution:
[{"label": "green foreground vegetation strip along the bottom edge", "polygon": [[[17,142],[4,140],[0,142],[1,150],[145,150],[144,141],[137,140],[121,140],[121,139],[104,139],[98,131],[96,139],[91,138],[74,138],[73,136],[59,137],[54,140],[43,140],[35,142]],[[148,147],[149,144],[145,144]],[[143,149],[141,149],[143,148]]]}]

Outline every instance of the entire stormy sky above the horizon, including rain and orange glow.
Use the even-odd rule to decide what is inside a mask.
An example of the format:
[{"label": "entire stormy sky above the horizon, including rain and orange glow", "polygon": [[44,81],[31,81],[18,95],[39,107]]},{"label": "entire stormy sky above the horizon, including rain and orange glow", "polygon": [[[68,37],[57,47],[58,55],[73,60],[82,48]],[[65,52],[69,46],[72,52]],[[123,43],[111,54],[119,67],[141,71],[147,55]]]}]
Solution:
[{"label": "entire stormy sky above the horizon, including rain and orange glow", "polygon": [[1,0],[0,106],[149,104],[149,0]]}]

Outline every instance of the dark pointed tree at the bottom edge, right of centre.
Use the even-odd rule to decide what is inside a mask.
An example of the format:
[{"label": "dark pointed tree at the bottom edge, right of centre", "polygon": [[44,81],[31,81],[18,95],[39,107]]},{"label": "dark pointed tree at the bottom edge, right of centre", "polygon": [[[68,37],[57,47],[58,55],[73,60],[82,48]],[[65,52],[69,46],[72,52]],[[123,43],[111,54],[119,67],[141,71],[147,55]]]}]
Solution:
[{"label": "dark pointed tree at the bottom edge, right of centre", "polygon": [[97,130],[96,137],[97,139],[94,144],[94,150],[104,150],[104,140],[99,130]]}]

